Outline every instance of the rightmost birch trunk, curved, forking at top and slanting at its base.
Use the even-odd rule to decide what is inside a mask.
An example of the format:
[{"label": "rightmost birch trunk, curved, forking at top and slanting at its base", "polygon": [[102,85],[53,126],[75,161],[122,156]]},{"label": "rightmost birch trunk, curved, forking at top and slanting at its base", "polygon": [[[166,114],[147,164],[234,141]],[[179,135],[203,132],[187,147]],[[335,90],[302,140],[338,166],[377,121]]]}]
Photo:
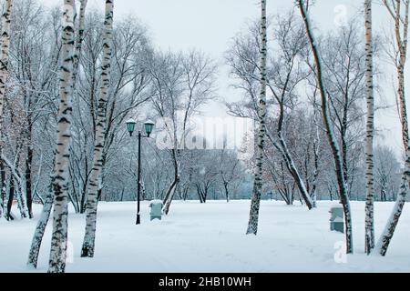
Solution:
[{"label": "rightmost birch trunk, curved, forking at top and slanting at its base", "polygon": [[[384,232],[379,239],[375,251],[385,256],[390,242],[395,234],[395,227],[397,226],[400,216],[402,215],[403,208],[405,206],[405,198],[408,191],[408,183],[410,177],[410,148],[409,148],[409,133],[408,133],[408,119],[407,119],[407,105],[405,101],[405,62],[407,56],[407,37],[408,37],[408,15],[410,1],[395,0],[392,1],[392,5],[389,5],[387,0],[384,0],[384,5],[388,9],[390,15],[395,19],[395,38],[398,49],[398,64],[397,69],[397,82],[398,82],[398,99],[400,105],[400,120],[402,123],[402,135],[403,144],[405,146],[405,173],[402,177],[402,186],[400,188],[400,194],[397,196],[395,207],[393,212],[387,221],[384,228]],[[402,2],[405,5],[405,16],[402,16]],[[403,31],[402,31],[403,25]]]}]

